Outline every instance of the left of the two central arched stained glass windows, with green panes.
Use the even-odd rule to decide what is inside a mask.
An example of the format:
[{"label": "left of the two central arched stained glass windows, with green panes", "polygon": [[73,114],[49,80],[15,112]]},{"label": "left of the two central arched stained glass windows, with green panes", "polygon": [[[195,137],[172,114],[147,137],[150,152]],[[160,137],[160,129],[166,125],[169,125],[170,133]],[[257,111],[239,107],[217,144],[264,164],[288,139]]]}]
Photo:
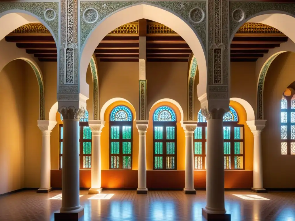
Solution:
[{"label": "left of the two central arched stained glass windows, with green panes", "polygon": [[109,169],[132,169],[132,112],[117,106],[110,113]]}]

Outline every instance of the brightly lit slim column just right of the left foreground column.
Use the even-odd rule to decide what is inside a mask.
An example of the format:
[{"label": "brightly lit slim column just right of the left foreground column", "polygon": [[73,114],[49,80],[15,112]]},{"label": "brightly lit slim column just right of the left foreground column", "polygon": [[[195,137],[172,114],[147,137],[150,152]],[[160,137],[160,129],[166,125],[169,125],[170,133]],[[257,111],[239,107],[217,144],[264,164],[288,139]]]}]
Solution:
[{"label": "brightly lit slim column just right of the left foreground column", "polygon": [[91,144],[91,188],[88,194],[101,193],[101,147],[100,135],[104,127],[104,121],[89,121],[91,128],[92,144]]}]

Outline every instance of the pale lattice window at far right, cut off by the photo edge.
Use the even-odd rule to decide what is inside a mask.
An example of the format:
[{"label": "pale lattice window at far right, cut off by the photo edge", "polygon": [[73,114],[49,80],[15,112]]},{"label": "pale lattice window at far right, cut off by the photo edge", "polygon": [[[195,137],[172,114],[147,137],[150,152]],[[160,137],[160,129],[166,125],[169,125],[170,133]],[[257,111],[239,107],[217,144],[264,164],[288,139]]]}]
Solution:
[{"label": "pale lattice window at far right, cut off by the photo edge", "polygon": [[295,154],[295,94],[281,99],[281,154]]}]

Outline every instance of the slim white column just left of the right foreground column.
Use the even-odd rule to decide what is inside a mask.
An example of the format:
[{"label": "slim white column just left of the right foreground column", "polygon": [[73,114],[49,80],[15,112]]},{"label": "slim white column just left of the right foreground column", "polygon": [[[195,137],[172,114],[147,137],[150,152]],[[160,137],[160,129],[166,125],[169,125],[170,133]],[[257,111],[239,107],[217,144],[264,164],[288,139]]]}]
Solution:
[{"label": "slim white column just left of the right foreground column", "polygon": [[185,133],[185,172],[184,172],[184,193],[196,194],[194,189],[194,132],[197,127],[196,121],[184,121]]}]

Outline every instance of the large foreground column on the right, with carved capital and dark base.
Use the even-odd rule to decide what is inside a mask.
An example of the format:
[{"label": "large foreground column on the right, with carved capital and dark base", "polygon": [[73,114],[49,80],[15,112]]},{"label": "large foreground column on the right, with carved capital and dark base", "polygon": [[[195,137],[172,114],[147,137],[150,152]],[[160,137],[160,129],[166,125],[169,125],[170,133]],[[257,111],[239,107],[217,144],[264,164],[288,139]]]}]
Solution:
[{"label": "large foreground column on the right, with carved capital and dark base", "polygon": [[207,119],[207,174],[206,206],[202,215],[207,220],[230,220],[224,207],[224,151],[223,115],[224,109],[213,109],[211,113],[202,108]]}]

